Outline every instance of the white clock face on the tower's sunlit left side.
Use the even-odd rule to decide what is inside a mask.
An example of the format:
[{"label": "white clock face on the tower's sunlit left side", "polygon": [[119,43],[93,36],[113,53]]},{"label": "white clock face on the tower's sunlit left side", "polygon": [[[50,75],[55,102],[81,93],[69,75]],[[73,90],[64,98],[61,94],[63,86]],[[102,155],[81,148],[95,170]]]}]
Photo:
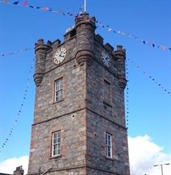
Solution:
[{"label": "white clock face on the tower's sunlit left side", "polygon": [[66,49],[64,47],[59,48],[54,55],[53,60],[54,63],[55,64],[61,63],[64,60],[65,56],[66,56]]}]

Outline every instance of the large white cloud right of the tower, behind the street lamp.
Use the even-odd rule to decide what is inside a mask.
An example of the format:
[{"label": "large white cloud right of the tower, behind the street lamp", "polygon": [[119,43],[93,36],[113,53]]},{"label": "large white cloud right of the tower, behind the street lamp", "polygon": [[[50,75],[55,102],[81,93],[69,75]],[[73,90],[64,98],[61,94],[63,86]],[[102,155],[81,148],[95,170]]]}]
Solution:
[{"label": "large white cloud right of the tower, behind the street lamp", "polygon": [[163,148],[155,144],[148,135],[128,137],[131,175],[163,175],[171,174],[171,155],[163,152]]}]

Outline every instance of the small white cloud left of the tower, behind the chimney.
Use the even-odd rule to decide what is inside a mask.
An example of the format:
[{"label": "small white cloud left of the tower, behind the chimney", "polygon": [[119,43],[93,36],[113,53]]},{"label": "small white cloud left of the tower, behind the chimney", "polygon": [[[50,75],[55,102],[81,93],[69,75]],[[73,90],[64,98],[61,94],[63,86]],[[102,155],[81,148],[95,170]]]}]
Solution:
[{"label": "small white cloud left of the tower, behind the chimney", "polygon": [[0,162],[0,172],[13,174],[14,170],[18,166],[22,166],[24,174],[26,174],[28,168],[28,156],[23,156],[19,158],[14,157]]}]

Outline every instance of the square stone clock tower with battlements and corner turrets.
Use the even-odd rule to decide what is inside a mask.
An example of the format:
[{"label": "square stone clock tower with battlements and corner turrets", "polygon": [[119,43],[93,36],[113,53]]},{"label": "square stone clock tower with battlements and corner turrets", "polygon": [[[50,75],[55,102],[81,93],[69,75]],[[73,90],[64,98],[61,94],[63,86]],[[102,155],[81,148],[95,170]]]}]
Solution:
[{"label": "square stone clock tower with battlements and corner turrets", "polygon": [[125,50],[82,13],[60,40],[35,44],[29,175],[130,175]]}]

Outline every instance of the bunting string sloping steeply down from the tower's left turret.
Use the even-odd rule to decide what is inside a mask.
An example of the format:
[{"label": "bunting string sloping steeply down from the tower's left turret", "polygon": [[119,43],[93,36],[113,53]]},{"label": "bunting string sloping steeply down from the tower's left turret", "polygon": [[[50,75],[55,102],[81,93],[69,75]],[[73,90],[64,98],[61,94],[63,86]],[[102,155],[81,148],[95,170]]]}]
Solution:
[{"label": "bunting string sloping steeply down from the tower's left turret", "polygon": [[23,110],[23,107],[24,107],[24,103],[25,103],[25,101],[27,99],[27,94],[28,94],[28,90],[29,90],[29,87],[30,87],[30,80],[31,80],[32,74],[33,74],[33,64],[34,64],[34,59],[33,59],[32,65],[30,67],[29,76],[28,76],[26,87],[25,87],[25,90],[24,90],[22,102],[20,104],[19,110],[18,110],[17,115],[16,115],[16,117],[14,119],[14,122],[12,124],[12,127],[11,127],[11,129],[10,129],[6,139],[5,139],[5,141],[3,142],[2,146],[0,147],[0,153],[2,152],[2,149],[4,149],[5,146],[7,145],[7,143],[9,142],[9,139],[10,139],[11,135],[13,134],[13,131],[14,131],[14,129],[16,127],[16,124],[17,124],[17,122],[19,120],[19,117],[20,117],[20,115],[22,113],[22,110]]}]

